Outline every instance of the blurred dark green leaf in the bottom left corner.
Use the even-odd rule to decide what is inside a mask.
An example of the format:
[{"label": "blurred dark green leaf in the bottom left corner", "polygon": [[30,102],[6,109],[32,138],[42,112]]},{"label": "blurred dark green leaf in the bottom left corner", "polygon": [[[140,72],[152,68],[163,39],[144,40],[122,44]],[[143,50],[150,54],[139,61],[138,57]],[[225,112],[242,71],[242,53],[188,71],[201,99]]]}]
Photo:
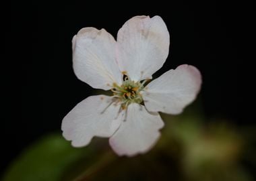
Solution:
[{"label": "blurred dark green leaf in the bottom left corner", "polygon": [[59,133],[47,135],[24,150],[9,166],[3,181],[63,180],[63,172],[90,152],[90,147],[71,147]]}]

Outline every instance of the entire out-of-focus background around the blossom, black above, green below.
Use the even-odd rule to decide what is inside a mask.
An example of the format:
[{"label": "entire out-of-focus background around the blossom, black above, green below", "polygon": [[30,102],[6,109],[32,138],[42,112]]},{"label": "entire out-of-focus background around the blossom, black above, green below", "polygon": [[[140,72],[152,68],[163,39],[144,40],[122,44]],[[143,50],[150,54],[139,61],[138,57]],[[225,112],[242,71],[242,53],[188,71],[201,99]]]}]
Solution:
[{"label": "entire out-of-focus background around the blossom, black above, green below", "polygon": [[[72,1],[7,7],[3,180],[255,180],[256,127],[241,95],[241,42],[250,4]],[[162,137],[143,156],[118,158],[107,139],[74,149],[61,137],[61,121],[79,101],[101,92],[75,77],[71,38],[90,26],[116,38],[135,15],[160,15],[170,32],[170,54],[154,78],[180,64],[196,66],[203,76],[197,101],[182,115],[162,114]]]}]

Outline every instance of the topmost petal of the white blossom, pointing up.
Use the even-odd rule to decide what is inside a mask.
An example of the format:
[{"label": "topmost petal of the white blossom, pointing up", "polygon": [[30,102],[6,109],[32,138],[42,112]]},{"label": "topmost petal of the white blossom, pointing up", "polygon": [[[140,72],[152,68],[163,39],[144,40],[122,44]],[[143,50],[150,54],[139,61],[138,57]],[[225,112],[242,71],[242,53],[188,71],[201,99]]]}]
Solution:
[{"label": "topmost petal of the white blossom, pointing up", "polygon": [[132,80],[152,78],[164,64],[169,44],[169,32],[161,17],[132,17],[117,34],[121,71],[127,72]]}]

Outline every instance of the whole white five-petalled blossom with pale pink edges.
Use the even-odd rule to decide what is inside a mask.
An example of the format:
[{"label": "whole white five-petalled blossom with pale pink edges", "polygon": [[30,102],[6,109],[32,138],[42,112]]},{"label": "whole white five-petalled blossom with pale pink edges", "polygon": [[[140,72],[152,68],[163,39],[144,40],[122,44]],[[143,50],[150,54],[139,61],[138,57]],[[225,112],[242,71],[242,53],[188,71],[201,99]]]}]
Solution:
[{"label": "whole white five-petalled blossom with pale pink edges", "polygon": [[189,65],[169,70],[146,85],[164,64],[169,50],[168,29],[159,16],[135,16],[117,34],[85,27],[73,37],[73,69],[77,78],[113,96],[91,96],[63,119],[63,136],[74,147],[92,137],[110,137],[119,156],[147,152],[164,126],[158,111],[179,114],[201,86],[201,74]]}]

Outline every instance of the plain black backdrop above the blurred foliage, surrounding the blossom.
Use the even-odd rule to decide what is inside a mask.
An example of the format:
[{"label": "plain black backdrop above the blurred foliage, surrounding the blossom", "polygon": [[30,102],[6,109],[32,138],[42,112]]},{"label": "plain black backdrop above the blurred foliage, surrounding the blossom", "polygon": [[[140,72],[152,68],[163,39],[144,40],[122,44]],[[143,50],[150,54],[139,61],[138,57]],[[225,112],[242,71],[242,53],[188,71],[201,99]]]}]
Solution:
[{"label": "plain black backdrop above the blurred foliage, surrounding the blossom", "polygon": [[[98,7],[100,6],[100,7]],[[5,58],[2,66],[7,86],[3,95],[6,115],[2,129],[1,168],[30,143],[51,131],[61,133],[61,120],[77,104],[94,93],[75,77],[71,62],[71,38],[82,27],[104,28],[114,37],[135,15],[160,15],[171,36],[170,54],[159,76],[180,64],[192,64],[203,76],[199,100],[205,121],[226,119],[238,126],[250,125],[243,115],[241,68],[245,56],[241,44],[247,9],[238,3],[185,1],[163,4],[11,4],[6,20]],[[247,5],[250,9],[250,5]]]}]

